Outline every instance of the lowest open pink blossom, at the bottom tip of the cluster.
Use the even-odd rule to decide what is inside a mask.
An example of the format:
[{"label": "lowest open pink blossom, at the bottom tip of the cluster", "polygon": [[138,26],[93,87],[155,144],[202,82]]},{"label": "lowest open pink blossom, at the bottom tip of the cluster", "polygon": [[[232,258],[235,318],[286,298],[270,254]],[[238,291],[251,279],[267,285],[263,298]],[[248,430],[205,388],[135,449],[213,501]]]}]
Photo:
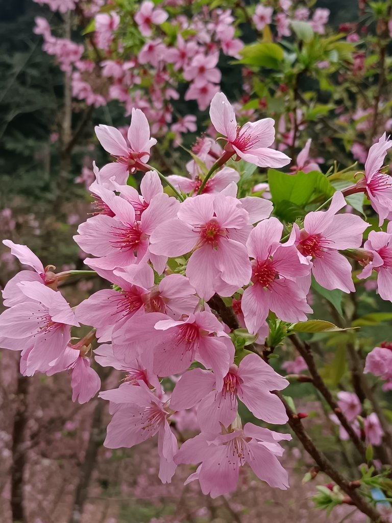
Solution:
[{"label": "lowest open pink blossom, at the bottom tip of the cluster", "polygon": [[177,464],[201,463],[186,483],[199,480],[203,494],[210,494],[212,498],[235,490],[239,469],[245,464],[271,487],[286,490],[288,475],[276,456],[283,453],[278,441],[290,439],[290,434],[279,434],[247,423],[244,429],[229,434],[201,433],[188,439],[174,461]]}]

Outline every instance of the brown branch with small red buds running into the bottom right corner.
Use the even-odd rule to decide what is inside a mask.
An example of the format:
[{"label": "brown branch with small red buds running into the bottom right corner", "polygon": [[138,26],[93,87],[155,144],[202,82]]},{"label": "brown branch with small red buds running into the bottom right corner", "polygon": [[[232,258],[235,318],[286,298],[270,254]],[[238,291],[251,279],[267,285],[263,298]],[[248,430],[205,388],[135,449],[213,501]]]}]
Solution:
[{"label": "brown branch with small red buds running into the bottom right corner", "polygon": [[332,463],[327,459],[327,457],[315,447],[312,439],[309,438],[306,433],[301,419],[291,410],[289,405],[284,400],[283,396],[279,392],[275,394],[280,398],[283,403],[287,416],[289,416],[289,425],[293,429],[295,435],[301,441],[302,446],[312,456],[312,458],[317,463],[318,467],[322,472],[325,472],[332,481],[334,481],[343,492],[350,496],[353,504],[363,513],[368,516],[373,523],[386,523],[385,519],[378,513],[378,511],[366,501],[366,499],[361,496],[358,491],[356,491],[357,486],[346,479],[340,474],[332,465]]}]

